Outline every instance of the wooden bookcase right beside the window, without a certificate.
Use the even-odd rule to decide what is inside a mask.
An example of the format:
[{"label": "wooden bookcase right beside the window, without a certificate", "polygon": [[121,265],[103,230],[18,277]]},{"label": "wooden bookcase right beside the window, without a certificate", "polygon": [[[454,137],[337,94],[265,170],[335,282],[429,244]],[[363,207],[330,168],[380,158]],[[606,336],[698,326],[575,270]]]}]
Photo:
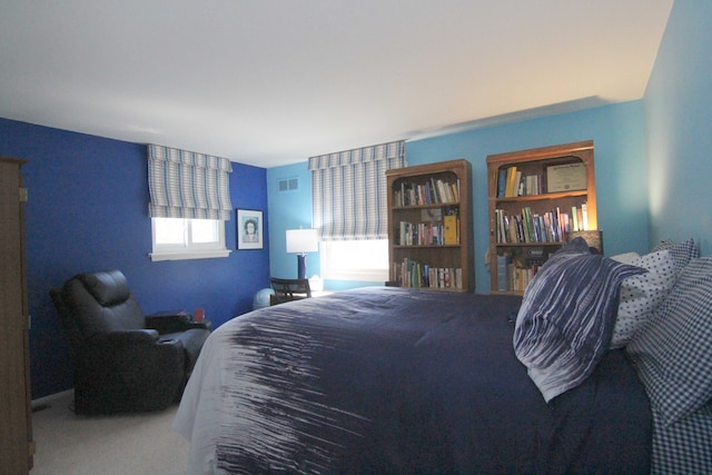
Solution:
[{"label": "wooden bookcase right beside the window, without a certificate", "polygon": [[464,159],[386,171],[392,285],[471,291],[471,176]]}]

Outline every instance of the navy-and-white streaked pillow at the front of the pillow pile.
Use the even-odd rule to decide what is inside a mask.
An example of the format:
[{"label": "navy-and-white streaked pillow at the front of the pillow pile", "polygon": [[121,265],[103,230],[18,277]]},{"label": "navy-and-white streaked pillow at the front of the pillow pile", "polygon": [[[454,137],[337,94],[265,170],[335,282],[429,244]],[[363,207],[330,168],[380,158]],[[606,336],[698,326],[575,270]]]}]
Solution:
[{"label": "navy-and-white streaked pillow at the front of the pillow pile", "polygon": [[566,247],[532,279],[514,329],[514,352],[547,403],[591,375],[609,349],[621,283],[645,271]]}]

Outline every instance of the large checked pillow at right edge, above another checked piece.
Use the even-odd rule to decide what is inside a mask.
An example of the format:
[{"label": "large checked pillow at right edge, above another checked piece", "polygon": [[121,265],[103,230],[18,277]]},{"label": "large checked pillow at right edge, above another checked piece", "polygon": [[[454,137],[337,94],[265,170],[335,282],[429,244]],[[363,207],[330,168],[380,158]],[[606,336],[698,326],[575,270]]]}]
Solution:
[{"label": "large checked pillow at right edge, above another checked piece", "polygon": [[625,349],[665,426],[712,398],[712,257],[690,261]]}]

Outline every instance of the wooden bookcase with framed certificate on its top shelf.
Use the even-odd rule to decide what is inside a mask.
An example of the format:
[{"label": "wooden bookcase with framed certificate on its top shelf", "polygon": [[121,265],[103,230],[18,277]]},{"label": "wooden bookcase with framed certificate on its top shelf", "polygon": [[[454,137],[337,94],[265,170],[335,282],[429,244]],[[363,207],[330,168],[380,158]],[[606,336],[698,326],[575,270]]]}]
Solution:
[{"label": "wooden bookcase with framed certificate on its top shelf", "polygon": [[571,231],[597,229],[593,141],[487,157],[492,293],[523,294]]}]

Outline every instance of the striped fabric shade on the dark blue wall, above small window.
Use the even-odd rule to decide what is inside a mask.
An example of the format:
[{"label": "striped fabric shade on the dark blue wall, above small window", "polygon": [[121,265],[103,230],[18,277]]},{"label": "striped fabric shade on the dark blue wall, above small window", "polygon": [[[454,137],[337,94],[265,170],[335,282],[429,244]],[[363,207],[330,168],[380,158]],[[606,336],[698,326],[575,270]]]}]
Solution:
[{"label": "striped fabric shade on the dark blue wall, above small window", "polygon": [[231,171],[226,158],[149,145],[149,215],[229,220]]}]

